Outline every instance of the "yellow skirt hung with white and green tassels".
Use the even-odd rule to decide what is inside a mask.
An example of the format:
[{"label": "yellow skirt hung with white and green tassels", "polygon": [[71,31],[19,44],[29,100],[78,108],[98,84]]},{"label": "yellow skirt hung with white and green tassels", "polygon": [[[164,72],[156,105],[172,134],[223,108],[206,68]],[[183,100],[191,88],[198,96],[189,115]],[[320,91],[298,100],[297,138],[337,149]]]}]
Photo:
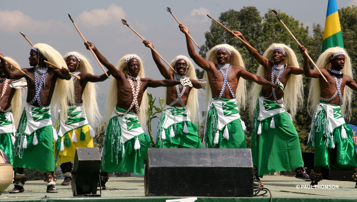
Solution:
[{"label": "yellow skirt hung with white and green tassels", "polygon": [[[83,129],[84,134],[86,134],[86,139],[83,141],[80,140],[81,129]],[[56,162],[56,168],[58,168],[60,163],[62,164],[62,163],[74,161],[74,155],[76,154],[76,148],[78,148],[78,147],[94,147],[93,146],[93,138],[90,137],[90,134],[89,134],[89,125],[83,126],[81,128],[77,128],[74,131],[76,132],[77,142],[71,141],[73,130],[67,132],[68,138],[70,139],[70,141],[69,141],[70,147],[65,147],[65,149],[63,151],[61,151],[61,150],[59,151],[58,160]],[[62,139],[64,140],[65,137],[66,137],[66,135],[63,135]],[[54,144],[55,144],[54,153],[56,153],[56,142]]]}]

